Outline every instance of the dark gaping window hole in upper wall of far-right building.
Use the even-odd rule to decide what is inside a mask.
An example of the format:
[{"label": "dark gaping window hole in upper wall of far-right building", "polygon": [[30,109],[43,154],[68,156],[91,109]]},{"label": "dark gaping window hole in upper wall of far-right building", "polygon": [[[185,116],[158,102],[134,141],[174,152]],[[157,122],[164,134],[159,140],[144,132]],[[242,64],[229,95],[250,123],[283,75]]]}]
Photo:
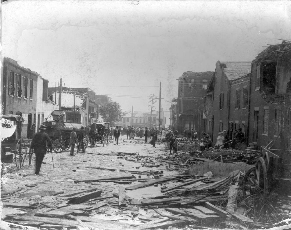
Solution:
[{"label": "dark gaping window hole in upper wall of far-right building", "polygon": [[276,62],[262,65],[263,69],[263,91],[266,94],[275,94],[276,91]]}]

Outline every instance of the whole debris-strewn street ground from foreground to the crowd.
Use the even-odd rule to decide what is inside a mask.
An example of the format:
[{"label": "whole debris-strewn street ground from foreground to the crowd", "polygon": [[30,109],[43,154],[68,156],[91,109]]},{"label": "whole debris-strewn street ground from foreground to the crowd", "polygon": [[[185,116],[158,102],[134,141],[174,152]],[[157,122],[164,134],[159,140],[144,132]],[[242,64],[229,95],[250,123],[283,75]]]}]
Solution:
[{"label": "whole debris-strewn street ground from foreground to the crowd", "polygon": [[290,229],[291,197],[267,186],[260,151],[197,146],[179,140],[170,154],[121,136],[47,153],[40,175],[34,159],[4,163],[1,229]]}]

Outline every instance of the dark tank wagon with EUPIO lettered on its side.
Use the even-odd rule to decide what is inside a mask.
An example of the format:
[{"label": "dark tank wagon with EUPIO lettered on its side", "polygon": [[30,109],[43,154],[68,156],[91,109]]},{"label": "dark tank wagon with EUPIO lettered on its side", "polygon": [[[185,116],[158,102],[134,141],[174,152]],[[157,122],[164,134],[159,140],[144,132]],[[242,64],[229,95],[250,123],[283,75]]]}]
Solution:
[{"label": "dark tank wagon with EUPIO lettered on its side", "polygon": [[[48,121],[52,117],[52,120]],[[70,134],[73,128],[76,128],[77,137],[83,135],[83,151],[88,146],[89,141],[89,128],[84,127],[84,131],[81,130],[82,124],[68,123],[66,122],[66,116],[64,110],[54,110],[51,114],[45,118],[45,122],[42,125],[46,127],[46,133],[52,140],[52,146],[54,152],[63,152],[70,149]],[[79,140],[79,138],[77,138]]]}]

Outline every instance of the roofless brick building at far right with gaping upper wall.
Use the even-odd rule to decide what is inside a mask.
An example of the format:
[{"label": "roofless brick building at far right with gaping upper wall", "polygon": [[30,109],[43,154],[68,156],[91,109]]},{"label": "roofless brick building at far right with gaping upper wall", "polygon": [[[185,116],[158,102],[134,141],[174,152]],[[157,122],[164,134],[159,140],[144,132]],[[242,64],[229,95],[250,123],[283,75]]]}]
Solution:
[{"label": "roofless brick building at far right with gaping upper wall", "polygon": [[250,145],[291,148],[291,41],[271,45],[252,62]]}]

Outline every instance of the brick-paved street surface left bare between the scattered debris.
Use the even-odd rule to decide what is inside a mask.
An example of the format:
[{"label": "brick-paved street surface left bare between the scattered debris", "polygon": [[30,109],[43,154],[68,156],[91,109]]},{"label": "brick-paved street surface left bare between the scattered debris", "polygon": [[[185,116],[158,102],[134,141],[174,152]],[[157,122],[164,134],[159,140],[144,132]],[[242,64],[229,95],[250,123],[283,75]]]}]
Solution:
[{"label": "brick-paved street surface left bare between the scattered debris", "polygon": [[[97,178],[109,178],[109,177],[122,177],[134,175],[132,173],[123,171],[109,171],[109,170],[97,170],[89,167],[101,166],[104,168],[114,169],[127,169],[135,171],[149,170],[149,168],[141,167],[141,163],[127,161],[125,159],[118,158],[116,154],[112,154],[111,151],[130,151],[139,152],[139,155],[143,156],[155,156],[160,154],[160,150],[164,148],[164,144],[157,145],[156,149],[152,148],[150,144],[134,144],[132,141],[127,140],[124,136],[120,137],[120,143],[116,145],[111,143],[108,146],[102,146],[98,144],[95,148],[88,147],[86,152],[88,153],[76,153],[70,156],[69,151],[55,153],[53,152],[54,170],[52,165],[52,154],[47,153],[43,160],[42,167],[40,169],[40,175],[34,175],[35,171],[35,159],[32,159],[31,166],[28,161],[24,162],[24,167],[21,170],[11,170],[4,174],[5,184],[2,185],[2,191],[13,191],[17,188],[26,188],[30,192],[38,191],[64,191],[64,193],[73,193],[85,189],[96,188],[102,189],[102,196],[111,195],[113,192],[118,191],[118,184],[113,182],[95,182],[95,183],[74,183],[74,180],[85,179],[97,179]],[[147,150],[150,150],[149,152]],[[155,151],[155,152],[154,152]],[[96,153],[96,154],[89,154]],[[97,155],[104,154],[104,155]],[[85,162],[84,162],[85,161]],[[120,163],[121,162],[121,163]],[[11,165],[11,164],[10,164]],[[15,166],[15,164],[12,166]],[[77,168],[79,167],[79,168]],[[140,167],[136,169],[136,167]],[[76,170],[73,172],[72,170]],[[150,168],[150,170],[165,170],[163,167]],[[174,174],[174,172],[169,172]],[[21,175],[19,175],[21,174]],[[26,176],[24,176],[26,175]],[[138,176],[135,174],[134,176]],[[146,175],[143,175],[146,177]],[[135,182],[138,183],[138,182]],[[134,183],[132,183],[134,184]],[[34,185],[34,187],[26,187],[25,185]]]}]

